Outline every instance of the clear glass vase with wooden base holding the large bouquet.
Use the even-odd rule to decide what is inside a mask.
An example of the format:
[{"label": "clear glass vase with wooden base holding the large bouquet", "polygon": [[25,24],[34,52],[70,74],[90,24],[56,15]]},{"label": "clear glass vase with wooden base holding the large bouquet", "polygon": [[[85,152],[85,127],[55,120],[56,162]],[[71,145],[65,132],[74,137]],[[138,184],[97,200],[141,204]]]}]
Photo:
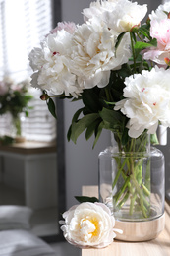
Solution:
[{"label": "clear glass vase with wooden base holding the large bouquet", "polygon": [[[99,200],[110,208],[117,227],[125,228],[126,223],[126,231],[118,239],[148,240],[164,225],[164,156],[150,147],[146,133],[138,139],[129,138],[126,144],[122,142],[122,135],[114,133],[112,146],[99,154]],[[161,230],[149,236],[149,230],[147,235],[132,234],[134,224],[140,228],[145,222],[148,227],[158,219]]]}]

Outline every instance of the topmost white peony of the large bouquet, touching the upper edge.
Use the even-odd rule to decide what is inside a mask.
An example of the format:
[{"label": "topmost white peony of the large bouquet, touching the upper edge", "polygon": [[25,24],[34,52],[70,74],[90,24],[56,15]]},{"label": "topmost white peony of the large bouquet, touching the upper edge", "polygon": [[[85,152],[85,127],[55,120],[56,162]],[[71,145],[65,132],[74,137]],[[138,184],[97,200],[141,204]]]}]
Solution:
[{"label": "topmost white peony of the large bouquet, touching the upper edge", "polygon": [[116,32],[129,32],[139,26],[147,12],[146,5],[139,5],[128,0],[99,1],[84,9],[85,20],[99,17],[108,28]]}]

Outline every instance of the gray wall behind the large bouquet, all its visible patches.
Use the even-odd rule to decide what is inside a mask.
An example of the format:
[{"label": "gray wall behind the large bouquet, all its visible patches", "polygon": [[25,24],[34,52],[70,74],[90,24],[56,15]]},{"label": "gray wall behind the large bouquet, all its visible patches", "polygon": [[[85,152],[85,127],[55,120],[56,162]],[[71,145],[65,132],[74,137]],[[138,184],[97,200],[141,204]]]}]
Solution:
[{"label": "gray wall behind the large bouquet, all its visible patches", "polygon": [[[73,21],[78,24],[83,23],[82,10],[89,6],[90,0],[62,0],[62,21]],[[141,0],[141,4],[148,4],[150,10],[156,9],[161,3],[158,0]],[[81,195],[83,185],[95,185],[98,182],[97,156],[98,153],[110,145],[110,134],[104,132],[94,150],[92,141],[85,141],[85,134],[81,135],[77,144],[68,142],[66,138],[67,130],[71,123],[73,114],[81,107],[81,102],[73,103],[69,100],[64,101],[64,121],[65,121],[65,153],[66,153],[66,197],[67,208],[76,203],[74,196]],[[170,136],[170,135],[169,135]],[[169,143],[167,147],[161,147],[166,157],[166,170],[169,162]],[[169,181],[168,181],[169,180]],[[170,182],[170,175],[167,175],[166,185]]]}]

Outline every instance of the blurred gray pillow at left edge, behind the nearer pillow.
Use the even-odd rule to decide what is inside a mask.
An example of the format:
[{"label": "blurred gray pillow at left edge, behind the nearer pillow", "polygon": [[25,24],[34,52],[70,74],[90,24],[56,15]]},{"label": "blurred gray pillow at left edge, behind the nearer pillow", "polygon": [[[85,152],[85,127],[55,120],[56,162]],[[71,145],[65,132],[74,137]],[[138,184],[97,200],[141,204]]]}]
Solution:
[{"label": "blurred gray pillow at left edge, behind the nearer pillow", "polygon": [[0,230],[29,229],[31,214],[27,206],[0,206]]}]

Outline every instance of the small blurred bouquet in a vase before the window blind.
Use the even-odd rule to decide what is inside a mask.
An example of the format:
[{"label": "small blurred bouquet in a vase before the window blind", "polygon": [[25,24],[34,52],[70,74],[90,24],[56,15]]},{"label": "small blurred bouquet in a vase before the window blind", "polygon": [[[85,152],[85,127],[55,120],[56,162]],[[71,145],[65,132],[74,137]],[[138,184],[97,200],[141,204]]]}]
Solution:
[{"label": "small blurred bouquet in a vase before the window blind", "polygon": [[[14,131],[11,131],[11,135],[14,136],[15,134],[15,137],[22,135],[20,114],[25,113],[28,116],[28,109],[31,108],[28,106],[28,102],[32,98],[28,93],[28,86],[27,80],[16,83],[10,77],[4,77],[0,81],[0,115],[10,113],[14,125]],[[6,138],[7,143],[8,141],[11,142],[8,137],[4,137],[4,139]]]}]

